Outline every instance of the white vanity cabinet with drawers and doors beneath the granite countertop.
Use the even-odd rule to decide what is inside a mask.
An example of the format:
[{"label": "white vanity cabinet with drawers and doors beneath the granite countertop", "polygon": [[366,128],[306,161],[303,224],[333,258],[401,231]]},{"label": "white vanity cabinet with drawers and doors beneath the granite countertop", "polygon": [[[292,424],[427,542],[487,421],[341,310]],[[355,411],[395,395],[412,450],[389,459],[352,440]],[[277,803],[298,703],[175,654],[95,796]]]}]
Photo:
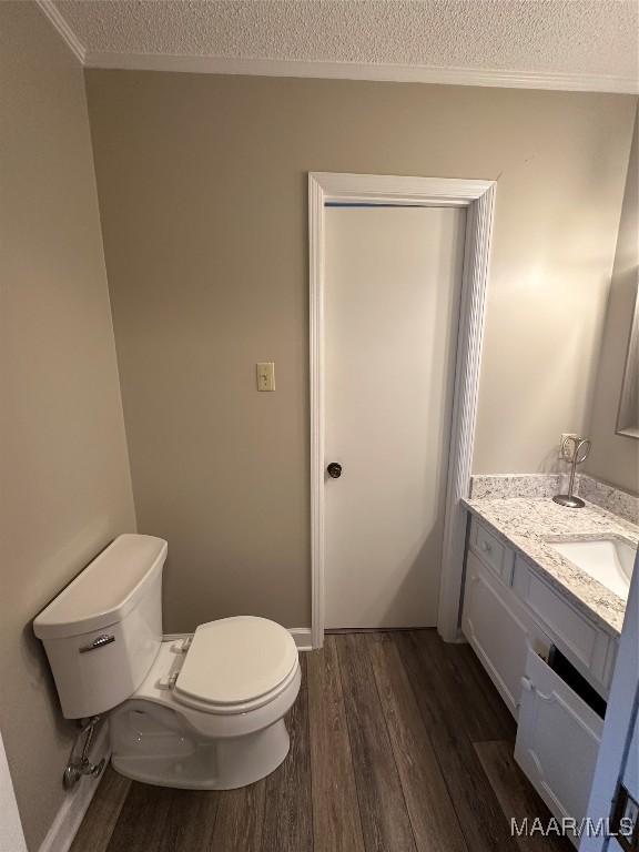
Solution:
[{"label": "white vanity cabinet with drawers and doors beneath the granite countertop", "polygon": [[517,762],[555,816],[581,819],[604,720],[547,661],[558,649],[606,698],[617,641],[475,517],[462,629],[518,722]]}]

